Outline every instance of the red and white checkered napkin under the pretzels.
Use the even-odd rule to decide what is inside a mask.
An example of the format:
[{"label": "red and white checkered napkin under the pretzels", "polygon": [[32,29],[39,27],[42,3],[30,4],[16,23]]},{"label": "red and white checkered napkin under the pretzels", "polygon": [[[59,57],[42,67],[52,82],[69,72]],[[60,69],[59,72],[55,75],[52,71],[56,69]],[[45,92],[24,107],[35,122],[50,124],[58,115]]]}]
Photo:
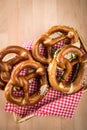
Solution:
[{"label": "red and white checkered napkin under the pretzels", "polygon": [[[32,50],[32,43],[34,41],[31,40],[28,43],[24,44],[23,47],[27,50]],[[58,48],[64,46],[65,43],[63,41],[58,42],[54,46],[54,50],[56,51]],[[40,47],[40,54],[45,55],[45,48]],[[22,71],[21,74],[23,75],[25,71]],[[58,72],[58,74],[61,74],[61,72]],[[72,77],[73,72],[67,79],[67,82]],[[37,90],[38,87],[38,78],[33,78],[30,81],[30,88],[29,92],[33,93]],[[21,92],[16,94],[20,95]],[[65,118],[72,118],[74,115],[74,112],[78,106],[78,103],[80,101],[80,98],[83,94],[83,91],[79,91],[75,94],[67,95],[62,92],[53,90],[50,88],[49,92],[46,94],[46,96],[42,99],[42,101],[38,102],[37,104],[33,106],[17,106],[15,104],[6,102],[5,105],[5,111],[6,112],[14,112],[16,115],[20,117],[25,117],[30,114],[34,114],[37,116],[48,116],[48,115],[55,115]]]}]

